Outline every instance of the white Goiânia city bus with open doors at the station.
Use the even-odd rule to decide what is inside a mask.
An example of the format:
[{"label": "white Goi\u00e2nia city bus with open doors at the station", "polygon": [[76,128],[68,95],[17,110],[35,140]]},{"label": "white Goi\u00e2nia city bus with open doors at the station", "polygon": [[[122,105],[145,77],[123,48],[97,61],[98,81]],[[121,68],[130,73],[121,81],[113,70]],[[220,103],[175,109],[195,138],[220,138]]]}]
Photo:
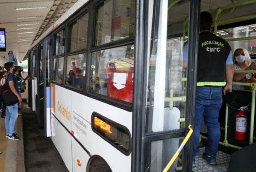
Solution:
[{"label": "white Goi\u00e2nia city bus with open doors at the station", "polygon": [[[166,167],[193,124],[200,10],[223,2],[78,0],[31,45],[29,105],[69,171]],[[192,143],[169,171],[192,171]]]}]

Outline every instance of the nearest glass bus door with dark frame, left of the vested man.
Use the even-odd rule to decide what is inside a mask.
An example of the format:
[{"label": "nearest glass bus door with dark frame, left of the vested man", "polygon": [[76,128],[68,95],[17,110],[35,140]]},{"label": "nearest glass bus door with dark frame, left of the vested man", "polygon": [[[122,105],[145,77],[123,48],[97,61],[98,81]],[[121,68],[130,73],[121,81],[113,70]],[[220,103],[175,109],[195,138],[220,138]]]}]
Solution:
[{"label": "nearest glass bus door with dark frame, left of the vested man", "polygon": [[[143,10],[137,11],[140,16],[136,28],[136,56],[145,58],[136,61],[135,67],[134,88],[138,89],[134,90],[133,122],[137,126],[132,134],[136,140],[132,171],[192,171],[193,135],[186,144],[182,141],[192,131],[189,125],[193,125],[194,119],[198,50],[195,40],[199,35],[200,1],[144,2],[145,14]],[[144,31],[140,29],[143,24]],[[147,36],[140,37],[142,33]],[[185,51],[189,58],[183,55]],[[140,121],[141,114],[145,115]],[[138,136],[140,129],[141,136]],[[136,137],[142,138],[141,143]],[[136,146],[140,144],[141,152],[138,153]],[[182,149],[180,145],[185,147]],[[170,168],[166,168],[177,150],[178,157]]]}]

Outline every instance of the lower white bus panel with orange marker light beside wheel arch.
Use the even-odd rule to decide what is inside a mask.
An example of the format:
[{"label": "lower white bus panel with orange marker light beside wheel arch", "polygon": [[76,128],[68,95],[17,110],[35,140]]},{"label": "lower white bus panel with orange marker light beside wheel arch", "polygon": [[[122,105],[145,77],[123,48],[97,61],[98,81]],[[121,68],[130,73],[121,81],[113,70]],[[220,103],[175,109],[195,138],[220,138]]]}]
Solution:
[{"label": "lower white bus panel with orange marker light beside wheel arch", "polygon": [[[87,163],[90,159],[88,153],[77,143],[77,141],[72,137],[72,164],[73,171],[75,172],[85,172]],[[81,162],[81,166],[77,164],[77,160]]]}]

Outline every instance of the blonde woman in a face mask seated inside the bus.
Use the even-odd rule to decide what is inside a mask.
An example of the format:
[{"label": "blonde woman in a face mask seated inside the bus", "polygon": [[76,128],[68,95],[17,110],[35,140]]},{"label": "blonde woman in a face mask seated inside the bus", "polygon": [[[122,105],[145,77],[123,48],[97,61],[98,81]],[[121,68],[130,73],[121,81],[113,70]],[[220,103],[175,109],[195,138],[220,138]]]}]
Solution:
[{"label": "blonde woman in a face mask seated inside the bus", "polygon": [[[256,70],[256,62],[251,63],[251,58],[248,51],[244,48],[239,48],[234,51],[233,55],[234,70]],[[236,82],[256,82],[253,74],[234,73],[233,80]],[[243,85],[233,85],[234,90],[245,90]]]}]

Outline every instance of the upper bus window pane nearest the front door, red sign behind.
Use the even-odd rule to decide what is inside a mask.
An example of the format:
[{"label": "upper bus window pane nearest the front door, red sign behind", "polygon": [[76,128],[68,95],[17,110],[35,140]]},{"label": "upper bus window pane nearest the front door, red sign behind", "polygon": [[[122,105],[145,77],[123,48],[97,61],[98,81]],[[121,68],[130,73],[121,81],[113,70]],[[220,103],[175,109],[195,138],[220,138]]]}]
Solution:
[{"label": "upper bus window pane nearest the front door, red sign behind", "polygon": [[97,10],[96,21],[96,46],[134,37],[135,0],[104,1]]}]

